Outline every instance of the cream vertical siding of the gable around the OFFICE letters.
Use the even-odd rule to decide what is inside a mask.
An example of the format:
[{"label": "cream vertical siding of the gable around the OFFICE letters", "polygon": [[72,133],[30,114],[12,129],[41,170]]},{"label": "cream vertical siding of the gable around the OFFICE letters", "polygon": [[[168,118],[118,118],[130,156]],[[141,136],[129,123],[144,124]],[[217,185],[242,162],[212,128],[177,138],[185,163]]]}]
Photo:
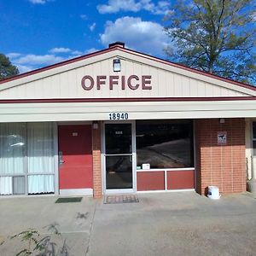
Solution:
[{"label": "cream vertical siding of the gable around the OFFICE letters", "polygon": [[[226,83],[227,86],[214,84],[216,79],[212,79],[212,83],[209,83],[189,77],[188,72],[175,73],[167,70],[164,64],[162,64],[162,68],[155,67],[149,63],[145,64],[138,60],[131,61],[125,57],[120,57],[121,72],[113,73],[114,57],[116,56],[70,70],[66,67],[67,70],[61,73],[43,76],[41,79],[31,82],[26,81],[24,84],[15,84],[14,87],[3,90],[1,90],[3,84],[1,84],[0,99],[212,97],[253,96],[256,94],[253,90],[251,94],[250,90],[243,90],[243,88],[239,90],[240,86],[232,84]],[[101,90],[96,90],[96,84],[92,90],[84,90],[81,86],[81,79],[84,75],[90,75],[96,80],[97,75],[106,75],[107,77],[119,75],[119,78],[125,75],[127,79],[132,74],[137,75],[140,79],[142,75],[151,75],[152,90],[142,90],[141,86],[137,90],[131,90],[127,86],[125,90],[121,90],[121,79],[119,79],[119,85],[113,85],[113,90],[109,90],[108,79],[107,84],[102,85]]]}]

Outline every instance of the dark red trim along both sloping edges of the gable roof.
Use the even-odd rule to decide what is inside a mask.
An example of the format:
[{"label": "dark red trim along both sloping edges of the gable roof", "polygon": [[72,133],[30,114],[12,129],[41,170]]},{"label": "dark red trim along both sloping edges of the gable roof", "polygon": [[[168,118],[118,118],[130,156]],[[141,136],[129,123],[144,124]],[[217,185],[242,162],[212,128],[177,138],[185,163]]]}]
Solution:
[{"label": "dark red trim along both sloping edges of the gable roof", "polygon": [[119,49],[121,51],[131,53],[133,55],[139,55],[139,56],[142,56],[142,57],[147,58],[149,60],[158,61],[160,63],[166,64],[166,65],[169,65],[169,66],[172,66],[172,67],[182,68],[184,70],[187,70],[187,71],[190,71],[190,72],[193,72],[193,73],[198,73],[198,74],[201,74],[201,75],[205,75],[205,76],[210,77],[212,79],[218,79],[218,80],[221,80],[221,81],[224,81],[224,82],[227,82],[227,83],[236,84],[238,86],[241,86],[241,87],[244,87],[244,88],[247,88],[247,89],[250,89],[250,90],[256,90],[256,87],[253,86],[253,85],[250,85],[250,84],[244,84],[244,83],[232,80],[232,79],[225,79],[225,78],[220,77],[220,76],[215,75],[215,74],[211,74],[211,73],[207,73],[207,72],[204,72],[204,71],[201,71],[201,70],[197,70],[197,69],[192,68],[192,67],[186,67],[186,66],[183,66],[181,64],[177,64],[177,63],[174,63],[174,62],[171,62],[171,61],[166,61],[166,60],[160,59],[158,57],[147,55],[147,54],[141,53],[141,52],[133,50],[133,49],[126,49],[126,48],[120,47],[119,45],[116,45],[116,46],[113,46],[113,47],[107,48],[107,49],[102,49],[102,50],[96,51],[96,52],[88,54],[88,55],[79,56],[79,57],[73,58],[71,60],[61,61],[59,63],[53,64],[53,65],[50,65],[50,66],[47,66],[47,67],[41,67],[41,68],[32,70],[30,72],[27,72],[27,73],[21,73],[19,75],[16,75],[14,77],[9,78],[9,79],[2,79],[2,80],[0,80],[0,84],[4,84],[4,83],[7,83],[9,81],[16,80],[16,79],[21,79],[21,78],[24,78],[24,77],[27,77],[27,76],[30,76],[30,75],[33,75],[33,74],[36,74],[36,73],[41,73],[41,72],[44,72],[46,70],[49,70],[49,69],[52,69],[52,68],[55,68],[55,67],[65,66],[67,64],[70,64],[70,63],[73,63],[73,62],[76,62],[76,61],[82,61],[82,60],[94,57],[96,55],[102,55],[104,53],[113,51],[115,49]]}]

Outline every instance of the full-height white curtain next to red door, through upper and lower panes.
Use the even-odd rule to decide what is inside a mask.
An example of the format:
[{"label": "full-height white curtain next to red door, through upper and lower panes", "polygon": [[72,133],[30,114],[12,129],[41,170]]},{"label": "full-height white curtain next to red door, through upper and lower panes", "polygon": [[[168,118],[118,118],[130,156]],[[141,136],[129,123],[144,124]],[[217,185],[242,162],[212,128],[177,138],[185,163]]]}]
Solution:
[{"label": "full-height white curtain next to red door, through upper and lower panes", "polygon": [[54,176],[39,175],[54,173],[54,137],[52,123],[27,124],[27,172],[28,193],[54,192]]}]

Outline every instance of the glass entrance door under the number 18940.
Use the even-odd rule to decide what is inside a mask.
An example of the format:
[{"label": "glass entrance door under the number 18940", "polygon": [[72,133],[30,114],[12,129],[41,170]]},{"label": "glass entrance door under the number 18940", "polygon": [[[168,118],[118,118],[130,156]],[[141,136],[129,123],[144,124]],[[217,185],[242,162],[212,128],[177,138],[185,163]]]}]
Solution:
[{"label": "glass entrance door under the number 18940", "polygon": [[132,124],[105,124],[106,189],[133,189]]}]

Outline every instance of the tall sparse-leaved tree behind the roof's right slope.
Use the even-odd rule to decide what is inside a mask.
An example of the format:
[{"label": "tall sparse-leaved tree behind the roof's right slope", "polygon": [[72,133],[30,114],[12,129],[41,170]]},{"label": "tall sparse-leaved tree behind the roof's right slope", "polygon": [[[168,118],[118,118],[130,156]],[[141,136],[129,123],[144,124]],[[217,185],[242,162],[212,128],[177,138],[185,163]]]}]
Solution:
[{"label": "tall sparse-leaved tree behind the roof's right slope", "polygon": [[254,0],[177,0],[166,15],[171,61],[256,84]]}]

